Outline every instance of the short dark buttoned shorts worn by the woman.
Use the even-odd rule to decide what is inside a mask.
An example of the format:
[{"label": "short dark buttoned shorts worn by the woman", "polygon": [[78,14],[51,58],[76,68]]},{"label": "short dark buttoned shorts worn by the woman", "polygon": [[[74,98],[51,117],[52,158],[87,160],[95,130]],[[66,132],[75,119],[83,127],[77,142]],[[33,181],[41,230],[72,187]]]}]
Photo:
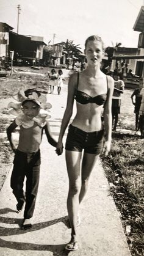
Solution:
[{"label": "short dark buttoned shorts worn by the woman", "polygon": [[81,129],[70,125],[65,144],[65,150],[99,155],[103,148],[104,130],[87,133]]}]

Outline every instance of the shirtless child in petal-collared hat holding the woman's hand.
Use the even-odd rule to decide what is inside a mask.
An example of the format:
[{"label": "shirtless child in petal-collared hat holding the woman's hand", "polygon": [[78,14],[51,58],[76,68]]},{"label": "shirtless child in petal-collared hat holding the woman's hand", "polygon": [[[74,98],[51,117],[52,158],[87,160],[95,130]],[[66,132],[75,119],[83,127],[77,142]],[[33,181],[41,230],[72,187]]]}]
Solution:
[{"label": "shirtless child in petal-collared hat holding the woman's hand", "polygon": [[[29,97],[32,89],[24,92]],[[38,93],[36,90],[34,93]],[[40,94],[40,93],[39,93]],[[37,197],[38,183],[40,176],[40,144],[43,130],[48,138],[48,142],[56,147],[57,142],[52,138],[49,131],[48,120],[40,123],[37,119],[41,109],[41,103],[38,98],[26,98],[21,103],[23,113],[7,128],[7,137],[15,158],[13,161],[13,171],[10,180],[10,186],[16,197],[16,209],[20,212],[25,204],[24,219],[21,229],[30,229],[32,227],[31,218],[34,213],[35,200]],[[12,139],[12,132],[16,126],[20,126],[20,137],[18,147]],[[23,191],[24,177],[26,177],[26,193]]]}]

